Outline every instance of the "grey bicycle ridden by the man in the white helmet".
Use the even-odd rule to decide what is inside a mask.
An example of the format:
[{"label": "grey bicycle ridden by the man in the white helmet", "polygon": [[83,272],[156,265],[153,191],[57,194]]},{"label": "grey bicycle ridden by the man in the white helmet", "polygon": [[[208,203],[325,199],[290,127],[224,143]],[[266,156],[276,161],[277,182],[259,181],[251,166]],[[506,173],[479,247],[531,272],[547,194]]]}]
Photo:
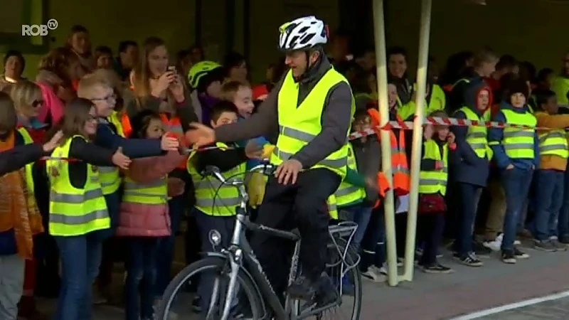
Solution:
[{"label": "grey bicycle ridden by the man in the white helmet", "polygon": [[[271,164],[261,164],[250,169],[249,173],[261,172],[270,175],[274,171],[275,166]],[[262,267],[252,249],[245,238],[245,230],[252,232],[268,233],[275,237],[284,238],[295,242],[294,253],[292,255],[291,267],[289,269],[288,284],[292,284],[299,273],[299,245],[301,238],[297,232],[277,230],[268,228],[265,225],[258,225],[248,220],[248,193],[245,190],[245,183],[242,178],[225,178],[218,168],[208,166],[202,173],[203,176],[211,176],[220,181],[221,186],[230,185],[238,188],[240,206],[237,208],[235,215],[235,226],[231,237],[230,245],[223,248],[220,252],[207,252],[206,257],[188,265],[181,270],[179,274],[170,282],[163,299],[159,305],[159,311],[156,319],[169,320],[169,311],[176,293],[183,290],[184,284],[188,282],[195,274],[211,270],[222,279],[225,278],[225,287],[220,289],[221,281],[216,277],[213,281],[211,301],[208,304],[207,314],[200,314],[198,319],[208,320],[227,320],[227,319],[307,319],[310,316],[316,316],[322,319],[325,311],[341,306],[343,299],[344,280],[349,279],[353,285],[353,308],[349,319],[359,319],[361,311],[361,274],[356,265],[359,262],[359,255],[350,247],[351,238],[356,232],[356,223],[342,222],[338,225],[329,227],[330,241],[328,243],[331,259],[326,263],[326,270],[339,267],[340,272],[334,277],[333,283],[338,289],[338,299],[336,302],[326,306],[306,306],[302,305],[299,300],[285,297],[285,305],[283,306],[277,294],[275,294],[272,286],[263,272]],[[217,247],[220,242],[220,234],[212,230],[209,234],[210,242]],[[330,272],[329,272],[330,274]],[[201,279],[204,275],[201,274]],[[332,276],[330,276],[332,277]],[[223,297],[219,299],[218,293]],[[223,294],[225,293],[225,294]],[[248,316],[236,314],[235,309],[243,305],[243,298],[247,298],[250,306]],[[235,303],[237,301],[237,303]],[[221,307],[223,306],[223,307]],[[203,312],[203,311],[202,311]],[[176,316],[174,319],[180,319]]]}]

